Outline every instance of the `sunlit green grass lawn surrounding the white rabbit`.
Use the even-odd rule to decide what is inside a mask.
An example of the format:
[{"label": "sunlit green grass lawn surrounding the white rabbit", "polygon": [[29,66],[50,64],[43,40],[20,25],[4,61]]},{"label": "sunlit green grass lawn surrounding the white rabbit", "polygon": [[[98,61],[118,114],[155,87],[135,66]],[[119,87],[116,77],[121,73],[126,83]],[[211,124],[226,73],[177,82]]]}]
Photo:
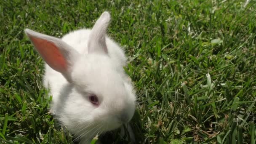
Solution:
[{"label": "sunlit green grass lawn surrounding the white rabbit", "polygon": [[[72,143],[48,114],[43,61],[24,28],[61,37],[107,10],[139,97],[138,143],[255,144],[256,1],[245,1],[0,0],[0,141]],[[119,130],[103,139],[125,142]]]}]

